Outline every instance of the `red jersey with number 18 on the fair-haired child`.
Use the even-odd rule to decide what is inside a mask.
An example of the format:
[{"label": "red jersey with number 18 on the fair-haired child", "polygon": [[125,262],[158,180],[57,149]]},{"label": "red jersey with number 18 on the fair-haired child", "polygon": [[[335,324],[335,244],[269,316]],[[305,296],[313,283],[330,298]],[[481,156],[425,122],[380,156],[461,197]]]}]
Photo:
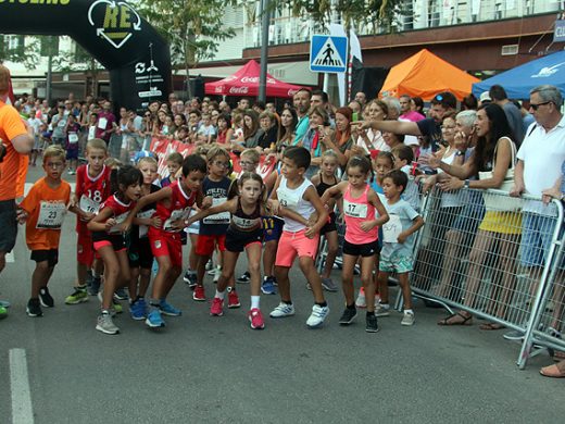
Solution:
[{"label": "red jersey with number 18 on the fair-haired child", "polygon": [[[92,178],[88,175],[88,164],[80,165],[76,170],[76,188],[75,195],[78,200],[78,208],[81,211],[97,213],[100,210],[102,200],[108,199],[110,192],[110,174],[112,170],[103,165],[98,176]],[[86,223],[77,217],[76,230],[78,233],[87,232]]]}]

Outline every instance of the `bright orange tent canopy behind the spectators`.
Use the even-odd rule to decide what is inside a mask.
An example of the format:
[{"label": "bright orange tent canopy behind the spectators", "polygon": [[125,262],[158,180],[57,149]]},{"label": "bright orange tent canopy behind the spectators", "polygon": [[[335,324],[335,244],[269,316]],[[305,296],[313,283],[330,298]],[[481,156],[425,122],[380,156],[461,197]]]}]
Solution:
[{"label": "bright orange tent canopy behind the spectators", "polygon": [[428,101],[438,92],[451,91],[457,100],[470,93],[479,79],[423,49],[398,65],[392,66],[382,88],[385,96],[418,96]]}]

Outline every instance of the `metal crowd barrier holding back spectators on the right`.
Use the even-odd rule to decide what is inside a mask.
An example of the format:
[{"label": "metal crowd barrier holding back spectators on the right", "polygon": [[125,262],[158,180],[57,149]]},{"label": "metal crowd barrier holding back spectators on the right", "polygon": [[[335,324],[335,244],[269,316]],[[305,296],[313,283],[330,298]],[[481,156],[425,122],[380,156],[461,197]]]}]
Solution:
[{"label": "metal crowd barrier holding back spectators on the right", "polygon": [[[411,277],[416,296],[523,333],[522,369],[536,353],[532,347],[565,350],[563,266],[556,258],[565,255],[561,202],[544,205],[500,190],[453,196],[436,187],[425,196],[422,214],[426,225]],[[523,237],[531,223],[538,227]],[[535,244],[538,238],[547,240],[545,249]]]}]

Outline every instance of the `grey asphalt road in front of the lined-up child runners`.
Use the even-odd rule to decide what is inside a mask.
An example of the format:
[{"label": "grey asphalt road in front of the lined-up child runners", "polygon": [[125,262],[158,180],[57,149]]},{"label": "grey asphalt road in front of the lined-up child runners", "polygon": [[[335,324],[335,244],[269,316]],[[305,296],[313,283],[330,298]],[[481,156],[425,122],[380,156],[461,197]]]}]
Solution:
[{"label": "grey asphalt road in front of the lined-up child runners", "polygon": [[[444,312],[419,301],[413,327],[393,313],[367,334],[364,312],[350,327],[338,325],[342,295],[328,294],[325,326],[307,329],[312,294],[298,269],[297,315],[267,317],[262,332],[246,319],[248,285],[238,285],[241,309],[212,317],[179,280],[171,302],[184,313],[167,317],[166,328],[151,332],[126,310],[116,319],[122,333],[103,335],[95,331],[98,300],[64,304],[75,278],[74,217],[50,283],[55,308],[32,319],[25,304],[34,263],[23,236],[0,275],[0,297],[13,303],[0,322],[2,423],[557,423],[565,415],[564,382],[538,374],[548,356],[519,371],[519,345],[502,332],[481,332],[477,321],[439,327]],[[240,260],[238,275],[244,269]],[[263,296],[264,314],[277,303],[278,296]]]}]

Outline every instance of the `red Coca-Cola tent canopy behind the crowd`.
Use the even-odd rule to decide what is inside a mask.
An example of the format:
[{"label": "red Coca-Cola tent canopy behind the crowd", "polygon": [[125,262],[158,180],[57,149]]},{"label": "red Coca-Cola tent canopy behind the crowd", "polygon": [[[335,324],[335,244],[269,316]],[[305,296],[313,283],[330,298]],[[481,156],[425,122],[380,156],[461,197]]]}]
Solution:
[{"label": "red Coca-Cola tent canopy behind the crowd", "polygon": [[[205,84],[206,95],[216,96],[259,96],[259,78],[261,67],[254,60],[250,60],[234,75],[227,78]],[[267,73],[267,97],[292,97],[300,86],[287,84],[273,78]]]}]

